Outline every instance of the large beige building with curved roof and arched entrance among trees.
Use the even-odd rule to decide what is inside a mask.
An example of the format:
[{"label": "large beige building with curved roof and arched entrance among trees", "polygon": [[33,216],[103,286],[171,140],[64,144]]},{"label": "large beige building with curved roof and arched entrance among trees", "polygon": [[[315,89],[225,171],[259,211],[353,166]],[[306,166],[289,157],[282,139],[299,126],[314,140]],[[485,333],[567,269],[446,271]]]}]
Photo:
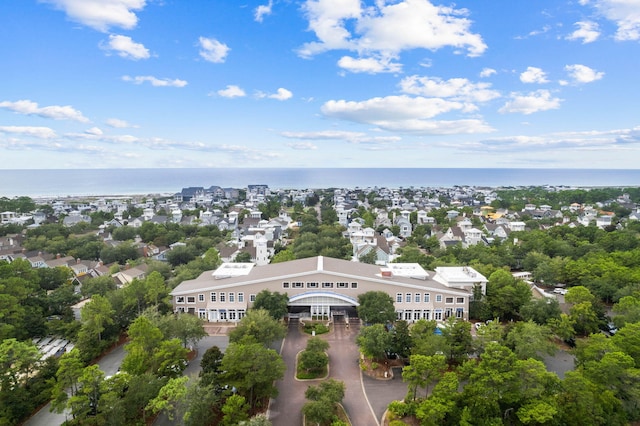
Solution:
[{"label": "large beige building with curved roof and arched entrance among trees", "polygon": [[470,267],[429,273],[417,263],[381,267],[318,256],[265,266],[225,263],[182,282],[171,296],[176,312],[210,322],[239,321],[265,289],[286,293],[289,312],[303,316],[355,316],[359,294],[384,291],[394,300],[398,319],[467,320],[473,288],[480,286],[484,293],[486,282]]}]

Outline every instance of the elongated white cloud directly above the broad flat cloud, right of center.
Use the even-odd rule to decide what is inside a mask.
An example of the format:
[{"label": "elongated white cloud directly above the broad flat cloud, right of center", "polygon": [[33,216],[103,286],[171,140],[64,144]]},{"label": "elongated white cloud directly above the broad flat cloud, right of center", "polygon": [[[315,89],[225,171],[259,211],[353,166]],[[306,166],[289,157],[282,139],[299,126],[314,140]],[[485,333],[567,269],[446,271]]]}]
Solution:
[{"label": "elongated white cloud directly above the broad flat cloud, right of center", "polygon": [[472,83],[466,78],[442,80],[436,77],[413,75],[402,79],[400,88],[404,93],[419,96],[451,98],[469,102],[487,102],[500,97],[490,83]]}]

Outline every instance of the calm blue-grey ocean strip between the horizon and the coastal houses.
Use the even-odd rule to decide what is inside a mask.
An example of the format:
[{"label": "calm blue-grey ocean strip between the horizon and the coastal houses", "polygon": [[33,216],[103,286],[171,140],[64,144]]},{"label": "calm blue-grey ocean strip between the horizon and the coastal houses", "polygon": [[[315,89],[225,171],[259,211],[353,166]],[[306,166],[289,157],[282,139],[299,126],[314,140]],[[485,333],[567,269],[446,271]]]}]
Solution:
[{"label": "calm blue-grey ocean strip between the horizon and the coastal houses", "polygon": [[636,187],[640,169],[210,168],[0,170],[0,197],[173,194],[220,186],[272,189],[453,186]]}]

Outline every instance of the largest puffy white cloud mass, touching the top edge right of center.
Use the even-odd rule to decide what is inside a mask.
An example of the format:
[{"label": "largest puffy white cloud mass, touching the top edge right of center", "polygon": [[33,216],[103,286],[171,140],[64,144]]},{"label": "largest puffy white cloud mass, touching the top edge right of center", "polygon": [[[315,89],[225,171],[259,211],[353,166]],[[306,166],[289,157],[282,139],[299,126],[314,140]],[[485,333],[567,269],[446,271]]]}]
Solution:
[{"label": "largest puffy white cloud mass, touching the top edge right of center", "polygon": [[360,0],[307,0],[303,9],[317,37],[299,49],[303,57],[345,49],[358,52],[360,59],[385,58],[404,50],[444,47],[479,56],[487,48],[482,37],[469,30],[466,9],[435,6],[427,0],[376,1],[365,9]]}]

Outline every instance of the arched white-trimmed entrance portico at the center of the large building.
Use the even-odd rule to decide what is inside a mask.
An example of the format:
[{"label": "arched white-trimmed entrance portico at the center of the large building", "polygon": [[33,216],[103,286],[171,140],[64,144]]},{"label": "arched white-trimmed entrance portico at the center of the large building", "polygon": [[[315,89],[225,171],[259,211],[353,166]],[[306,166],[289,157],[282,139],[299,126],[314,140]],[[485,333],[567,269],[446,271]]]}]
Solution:
[{"label": "arched white-trimmed entrance portico at the center of the large building", "polygon": [[289,311],[311,318],[333,318],[334,315],[355,315],[358,301],[353,297],[330,291],[310,291],[289,298]]}]

